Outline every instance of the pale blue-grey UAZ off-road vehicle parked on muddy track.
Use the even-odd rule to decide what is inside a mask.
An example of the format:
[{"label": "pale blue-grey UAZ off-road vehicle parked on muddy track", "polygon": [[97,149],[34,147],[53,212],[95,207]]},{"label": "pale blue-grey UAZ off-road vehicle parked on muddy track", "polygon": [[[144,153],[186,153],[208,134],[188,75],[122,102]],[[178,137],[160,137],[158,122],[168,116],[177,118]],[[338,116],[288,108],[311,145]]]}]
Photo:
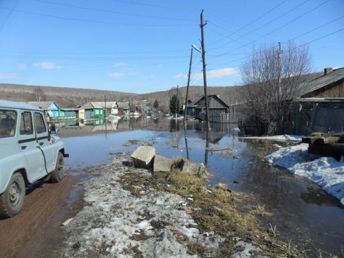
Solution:
[{"label": "pale blue-grey UAZ off-road vehicle parked on muddy track", "polygon": [[25,184],[63,179],[65,145],[50,136],[42,109],[0,100],[0,217],[21,211]]}]

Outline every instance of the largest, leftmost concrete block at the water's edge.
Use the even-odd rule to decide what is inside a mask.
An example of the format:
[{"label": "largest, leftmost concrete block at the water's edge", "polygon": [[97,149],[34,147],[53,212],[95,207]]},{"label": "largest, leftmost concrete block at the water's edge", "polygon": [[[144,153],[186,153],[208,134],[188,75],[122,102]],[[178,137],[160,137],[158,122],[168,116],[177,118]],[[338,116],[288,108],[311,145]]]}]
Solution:
[{"label": "largest, leftmost concrete block at the water's edge", "polygon": [[142,169],[151,169],[153,166],[153,158],[155,156],[155,148],[151,146],[138,147],[131,154],[133,166]]}]

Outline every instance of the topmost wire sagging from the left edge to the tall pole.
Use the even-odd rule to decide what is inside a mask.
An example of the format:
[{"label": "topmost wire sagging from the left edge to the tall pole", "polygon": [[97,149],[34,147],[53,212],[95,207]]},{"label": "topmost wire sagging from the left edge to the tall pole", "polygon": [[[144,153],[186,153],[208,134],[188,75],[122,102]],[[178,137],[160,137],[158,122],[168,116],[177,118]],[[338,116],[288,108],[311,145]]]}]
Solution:
[{"label": "topmost wire sagging from the left edge to the tall pole", "polygon": [[[12,10],[10,8],[3,8],[3,7],[0,7],[0,9]],[[42,17],[50,17],[50,18],[60,19],[60,20],[65,20],[65,21],[82,21],[82,22],[110,24],[110,25],[125,25],[125,26],[139,26],[139,27],[145,27],[145,26],[153,26],[153,27],[180,26],[180,24],[115,23],[115,22],[111,22],[111,21],[97,21],[97,20],[91,20],[91,19],[78,19],[78,18],[60,17],[60,16],[52,15],[52,14],[43,14],[43,13],[40,13],[40,12],[28,12],[28,11],[22,11],[22,10],[12,10],[12,12],[20,12],[20,13],[24,13],[24,14],[38,15],[38,16],[42,16]],[[183,26],[193,26],[193,25],[183,24]]]}]

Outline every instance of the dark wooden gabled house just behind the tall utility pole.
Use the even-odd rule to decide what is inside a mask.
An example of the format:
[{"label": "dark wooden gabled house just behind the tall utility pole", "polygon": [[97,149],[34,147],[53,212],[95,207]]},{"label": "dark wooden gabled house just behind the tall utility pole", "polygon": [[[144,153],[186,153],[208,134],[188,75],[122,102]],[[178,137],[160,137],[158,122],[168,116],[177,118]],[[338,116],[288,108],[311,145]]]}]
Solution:
[{"label": "dark wooden gabled house just behind the tall utility pole", "polygon": [[[204,96],[197,100],[194,105],[197,106],[195,107],[195,117],[200,120],[206,120]],[[219,98],[219,95],[208,96],[208,112],[210,122],[229,122],[229,107]]]}]

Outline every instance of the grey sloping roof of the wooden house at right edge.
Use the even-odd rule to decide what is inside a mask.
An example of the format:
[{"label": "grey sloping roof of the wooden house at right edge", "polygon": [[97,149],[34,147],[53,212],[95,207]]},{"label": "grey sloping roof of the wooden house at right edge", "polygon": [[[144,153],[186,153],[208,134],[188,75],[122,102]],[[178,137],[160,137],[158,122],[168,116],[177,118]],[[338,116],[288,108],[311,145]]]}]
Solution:
[{"label": "grey sloping roof of the wooden house at right edge", "polygon": [[321,89],[322,87],[325,87],[326,85],[329,85],[331,83],[335,83],[338,80],[341,80],[344,78],[344,67],[334,69],[333,72],[330,72],[329,74],[320,76],[318,78],[314,78],[308,83],[301,84],[300,91],[301,95],[309,94],[311,92],[316,91],[316,89]]}]

